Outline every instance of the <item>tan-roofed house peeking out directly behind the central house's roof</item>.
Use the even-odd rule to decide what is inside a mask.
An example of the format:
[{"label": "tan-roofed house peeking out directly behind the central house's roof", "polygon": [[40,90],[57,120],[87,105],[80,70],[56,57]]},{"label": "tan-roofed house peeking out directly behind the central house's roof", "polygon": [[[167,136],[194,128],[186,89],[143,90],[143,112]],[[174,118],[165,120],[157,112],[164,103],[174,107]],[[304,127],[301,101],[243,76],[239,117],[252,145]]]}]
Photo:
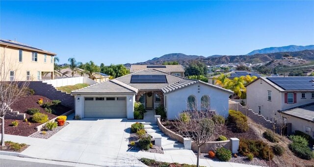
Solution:
[{"label": "tan-roofed house peeking out directly behind the central house's roof", "polygon": [[130,73],[144,69],[156,69],[161,72],[169,72],[184,77],[184,69],[181,65],[131,65]]}]

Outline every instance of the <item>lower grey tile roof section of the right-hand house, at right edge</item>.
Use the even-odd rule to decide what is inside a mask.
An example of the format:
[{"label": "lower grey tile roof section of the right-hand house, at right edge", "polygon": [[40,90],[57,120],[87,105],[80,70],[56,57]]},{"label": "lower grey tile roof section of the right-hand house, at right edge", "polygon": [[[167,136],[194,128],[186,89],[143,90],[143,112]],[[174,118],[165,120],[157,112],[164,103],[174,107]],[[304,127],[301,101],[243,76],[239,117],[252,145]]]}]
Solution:
[{"label": "lower grey tile roof section of the right-hand house, at right edge", "polygon": [[279,111],[280,113],[314,122],[314,103]]}]

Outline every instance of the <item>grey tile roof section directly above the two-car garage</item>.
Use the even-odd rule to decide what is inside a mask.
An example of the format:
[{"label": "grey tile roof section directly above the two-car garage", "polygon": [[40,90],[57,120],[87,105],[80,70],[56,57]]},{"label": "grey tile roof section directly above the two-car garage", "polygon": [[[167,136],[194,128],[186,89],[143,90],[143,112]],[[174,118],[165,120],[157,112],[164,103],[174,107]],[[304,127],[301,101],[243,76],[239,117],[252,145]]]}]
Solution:
[{"label": "grey tile roof section directly above the two-car garage", "polygon": [[72,91],[72,94],[136,94],[138,90],[115,79]]}]

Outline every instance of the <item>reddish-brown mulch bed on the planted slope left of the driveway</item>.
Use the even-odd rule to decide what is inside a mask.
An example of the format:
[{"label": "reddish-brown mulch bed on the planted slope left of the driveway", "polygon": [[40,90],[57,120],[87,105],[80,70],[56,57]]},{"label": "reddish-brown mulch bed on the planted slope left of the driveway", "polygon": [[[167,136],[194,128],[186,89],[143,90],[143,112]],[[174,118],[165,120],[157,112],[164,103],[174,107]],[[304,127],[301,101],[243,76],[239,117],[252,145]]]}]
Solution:
[{"label": "reddish-brown mulch bed on the planted slope left of the driveway", "polygon": [[[34,123],[31,122],[31,115],[28,115],[26,113],[28,108],[38,108],[40,110],[40,113],[44,113],[48,115],[49,119],[53,119],[57,116],[62,115],[63,113],[66,113],[70,111],[71,109],[68,107],[65,107],[63,105],[58,105],[54,108],[55,113],[47,113],[38,103],[38,99],[43,98],[43,102],[51,102],[52,99],[49,99],[45,96],[42,95],[30,95],[30,96],[25,96],[22,97],[19,101],[16,103],[12,104],[11,109],[13,111],[19,111],[20,113],[25,113],[26,114],[26,119],[30,124],[24,120],[15,120],[15,119],[5,119],[4,120],[4,128],[5,128],[5,134],[9,135],[18,135],[18,136],[29,136],[33,133],[36,132],[35,127],[40,125],[41,123]],[[17,121],[19,122],[18,126],[12,126],[12,121]],[[1,129],[0,129],[1,132]]]}]

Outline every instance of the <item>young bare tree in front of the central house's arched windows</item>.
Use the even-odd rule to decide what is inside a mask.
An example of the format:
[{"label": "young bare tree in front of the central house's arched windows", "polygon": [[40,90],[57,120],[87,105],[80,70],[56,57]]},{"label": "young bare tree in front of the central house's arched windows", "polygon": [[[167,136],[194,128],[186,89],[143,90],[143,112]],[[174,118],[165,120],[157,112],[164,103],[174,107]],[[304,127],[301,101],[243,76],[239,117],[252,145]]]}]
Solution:
[{"label": "young bare tree in front of the central house's arched windows", "polygon": [[177,122],[174,123],[180,135],[189,138],[198,146],[197,167],[199,167],[201,147],[213,140],[213,135],[219,128],[219,123],[212,120],[214,113],[208,109],[197,110],[197,107],[193,107],[193,109],[181,113]]}]

